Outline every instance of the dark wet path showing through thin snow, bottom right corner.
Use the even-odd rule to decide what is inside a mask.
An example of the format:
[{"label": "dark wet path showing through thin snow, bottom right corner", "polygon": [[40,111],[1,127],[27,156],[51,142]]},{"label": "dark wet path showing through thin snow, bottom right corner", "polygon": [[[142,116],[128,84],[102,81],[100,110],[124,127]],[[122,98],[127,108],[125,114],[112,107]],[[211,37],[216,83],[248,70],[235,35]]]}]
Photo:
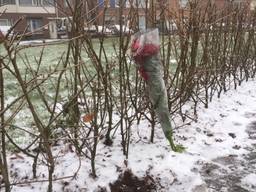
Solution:
[{"label": "dark wet path showing through thin snow, bottom right corner", "polygon": [[253,140],[252,145],[246,148],[248,153],[243,154],[242,158],[229,155],[203,163],[200,174],[206,184],[197,186],[195,192],[256,192],[256,186],[244,186],[242,183],[246,176],[256,174],[256,113],[248,114],[255,116],[246,129],[249,139]]}]

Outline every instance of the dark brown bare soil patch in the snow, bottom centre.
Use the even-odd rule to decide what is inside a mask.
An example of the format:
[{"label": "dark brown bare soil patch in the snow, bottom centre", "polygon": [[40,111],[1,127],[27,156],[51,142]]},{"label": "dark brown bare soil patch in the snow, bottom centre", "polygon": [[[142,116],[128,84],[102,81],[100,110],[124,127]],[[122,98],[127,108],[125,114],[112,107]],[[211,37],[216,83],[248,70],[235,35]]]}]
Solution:
[{"label": "dark brown bare soil patch in the snow, bottom centre", "polygon": [[111,192],[156,192],[154,179],[146,175],[138,178],[130,170],[122,173],[118,180],[110,185]]}]

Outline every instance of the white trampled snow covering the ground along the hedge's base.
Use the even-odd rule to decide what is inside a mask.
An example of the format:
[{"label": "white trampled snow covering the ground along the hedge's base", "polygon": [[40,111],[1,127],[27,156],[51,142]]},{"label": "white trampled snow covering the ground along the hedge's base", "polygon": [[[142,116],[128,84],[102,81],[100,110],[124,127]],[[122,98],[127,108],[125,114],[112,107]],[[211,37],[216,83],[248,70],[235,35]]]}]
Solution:
[{"label": "white trampled snow covering the ground along the hedge's base", "polygon": [[[146,173],[158,183],[159,192],[256,192],[256,81],[249,81],[215,98],[208,109],[200,108],[198,121],[175,130],[178,143],[186,152],[170,150],[157,127],[154,143],[149,143],[150,127],[146,121],[133,127],[128,168],[138,176]],[[176,122],[176,125],[181,125]],[[98,177],[90,177],[90,162],[71,152],[68,146],[54,147],[55,177],[73,175],[54,182],[54,191],[96,191],[98,186],[109,190],[125,170],[120,138],[112,147],[100,142],[96,158]],[[32,179],[32,159],[14,154],[9,165],[14,182]],[[47,179],[47,169],[40,163],[38,179]],[[46,191],[47,182],[14,186],[14,192]]]}]

